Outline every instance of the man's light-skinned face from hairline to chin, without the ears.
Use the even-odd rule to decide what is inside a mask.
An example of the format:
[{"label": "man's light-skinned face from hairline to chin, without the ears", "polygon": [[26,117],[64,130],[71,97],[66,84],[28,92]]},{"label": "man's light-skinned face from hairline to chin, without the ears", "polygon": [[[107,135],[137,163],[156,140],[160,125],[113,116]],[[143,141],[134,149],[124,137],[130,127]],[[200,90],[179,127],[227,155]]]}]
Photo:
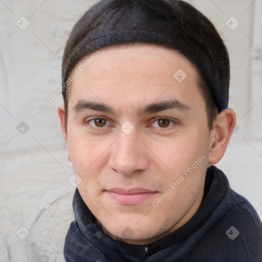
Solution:
[{"label": "man's light-skinned face from hairline to chin, without the ears", "polygon": [[128,45],[102,49],[70,85],[69,160],[113,238],[150,243],[199,208],[211,133],[198,79],[179,52]]}]

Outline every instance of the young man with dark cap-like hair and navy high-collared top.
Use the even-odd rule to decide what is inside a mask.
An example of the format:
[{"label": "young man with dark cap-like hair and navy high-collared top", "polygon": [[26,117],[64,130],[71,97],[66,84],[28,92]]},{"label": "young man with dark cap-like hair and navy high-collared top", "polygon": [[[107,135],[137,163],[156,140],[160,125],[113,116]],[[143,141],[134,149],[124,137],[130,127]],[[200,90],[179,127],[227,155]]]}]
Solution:
[{"label": "young man with dark cap-like hair and navy high-collared top", "polygon": [[67,261],[262,261],[262,225],[221,160],[229,58],[183,1],[111,0],[73,28],[58,107],[78,189]]}]

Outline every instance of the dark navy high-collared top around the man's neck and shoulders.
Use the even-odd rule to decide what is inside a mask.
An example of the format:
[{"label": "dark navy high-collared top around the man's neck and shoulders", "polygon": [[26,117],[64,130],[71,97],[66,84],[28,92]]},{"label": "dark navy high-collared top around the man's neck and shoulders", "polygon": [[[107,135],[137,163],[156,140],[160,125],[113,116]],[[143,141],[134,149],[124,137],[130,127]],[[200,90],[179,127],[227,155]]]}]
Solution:
[{"label": "dark navy high-collared top around the man's neck and shoulders", "polygon": [[73,209],[76,221],[65,238],[66,261],[262,261],[259,216],[244,197],[230,189],[225,174],[215,166],[207,169],[198,211],[181,228],[148,245],[127,244],[104,234],[78,189]]}]

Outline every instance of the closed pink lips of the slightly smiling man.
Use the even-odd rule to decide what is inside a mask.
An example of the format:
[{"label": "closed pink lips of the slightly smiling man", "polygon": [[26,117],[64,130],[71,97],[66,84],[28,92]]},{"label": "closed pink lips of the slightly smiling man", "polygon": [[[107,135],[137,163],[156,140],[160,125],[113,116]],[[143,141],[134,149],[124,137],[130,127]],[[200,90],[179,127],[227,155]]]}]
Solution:
[{"label": "closed pink lips of the slightly smiling man", "polygon": [[144,188],[113,188],[105,190],[105,192],[108,194],[108,197],[122,205],[140,204],[152,198],[157,193],[156,191]]}]

